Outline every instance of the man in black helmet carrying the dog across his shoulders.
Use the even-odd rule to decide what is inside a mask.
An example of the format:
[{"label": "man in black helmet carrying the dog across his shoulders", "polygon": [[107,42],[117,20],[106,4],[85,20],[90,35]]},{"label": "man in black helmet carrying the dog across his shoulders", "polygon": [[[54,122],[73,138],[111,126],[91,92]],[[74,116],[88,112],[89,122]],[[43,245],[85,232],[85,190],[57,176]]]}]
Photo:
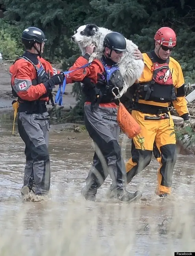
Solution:
[{"label": "man in black helmet carrying the dog across his shoulders", "polygon": [[[105,78],[106,68],[117,67],[117,63],[126,51],[126,40],[120,33],[108,33],[104,39],[101,60],[94,59],[90,66],[80,68],[88,63],[94,47],[94,45],[87,46],[86,53],[69,69],[79,68],[70,73],[70,78],[74,81],[83,81],[83,93],[86,96],[84,122],[95,145],[93,164],[81,194],[85,199],[94,201],[97,189],[109,174],[113,180],[114,197],[121,201],[133,201],[140,198],[141,193],[139,191],[129,193],[125,188],[125,163],[118,143],[117,105],[113,95],[113,92],[117,95],[122,89],[123,78],[119,71],[115,73],[117,75],[110,77],[109,84]],[[138,50],[135,55],[137,58],[142,58]],[[118,89],[115,89],[116,85]]]}]

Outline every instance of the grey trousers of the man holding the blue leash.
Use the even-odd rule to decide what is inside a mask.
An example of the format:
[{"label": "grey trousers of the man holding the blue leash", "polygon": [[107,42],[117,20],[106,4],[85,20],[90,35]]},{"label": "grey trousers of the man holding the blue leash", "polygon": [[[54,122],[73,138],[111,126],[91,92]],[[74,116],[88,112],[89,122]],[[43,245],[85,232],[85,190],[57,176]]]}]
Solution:
[{"label": "grey trousers of the man holding the blue leash", "polygon": [[18,132],[25,143],[26,166],[24,186],[36,194],[50,189],[50,159],[48,152],[49,114],[18,113]]}]

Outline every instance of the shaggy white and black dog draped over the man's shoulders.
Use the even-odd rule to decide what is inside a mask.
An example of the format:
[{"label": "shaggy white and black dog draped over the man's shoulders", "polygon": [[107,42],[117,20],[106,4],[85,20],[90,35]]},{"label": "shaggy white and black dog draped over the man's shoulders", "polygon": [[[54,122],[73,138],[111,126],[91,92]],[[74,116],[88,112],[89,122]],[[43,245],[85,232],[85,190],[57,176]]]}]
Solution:
[{"label": "shaggy white and black dog draped over the man's shoulders", "polygon": [[[72,41],[78,43],[82,54],[85,54],[85,48],[88,45],[94,44],[94,52],[90,56],[89,62],[93,59],[101,59],[104,51],[104,37],[112,32],[104,27],[98,27],[94,24],[87,24],[80,26],[71,37]],[[124,94],[128,87],[132,86],[135,80],[139,79],[142,74],[144,63],[143,60],[136,60],[133,56],[135,49],[138,46],[135,45],[131,40],[126,39],[127,52],[125,52],[120,59],[118,66],[120,73],[124,78],[124,88],[120,92],[120,97]]]}]

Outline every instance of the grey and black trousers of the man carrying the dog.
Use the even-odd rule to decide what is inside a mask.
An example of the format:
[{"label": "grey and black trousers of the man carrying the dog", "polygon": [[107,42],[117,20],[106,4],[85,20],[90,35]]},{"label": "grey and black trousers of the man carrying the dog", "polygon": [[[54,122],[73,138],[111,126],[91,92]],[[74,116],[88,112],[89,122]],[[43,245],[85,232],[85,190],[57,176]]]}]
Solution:
[{"label": "grey and black trousers of the man carrying the dog", "polygon": [[122,189],[126,183],[125,163],[118,143],[120,129],[116,118],[117,108],[99,106],[92,112],[91,105],[84,105],[84,122],[95,144],[93,164],[86,179],[88,191],[96,193],[108,174],[113,181],[113,189]]}]

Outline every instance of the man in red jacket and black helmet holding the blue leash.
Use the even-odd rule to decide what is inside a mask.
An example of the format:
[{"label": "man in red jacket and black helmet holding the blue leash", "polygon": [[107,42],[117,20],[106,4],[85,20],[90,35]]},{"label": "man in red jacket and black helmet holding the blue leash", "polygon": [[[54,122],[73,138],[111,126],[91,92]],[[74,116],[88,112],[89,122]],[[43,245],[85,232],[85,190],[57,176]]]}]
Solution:
[{"label": "man in red jacket and black helmet holding the blue leash", "polygon": [[[18,132],[25,143],[24,187],[38,195],[47,194],[50,189],[46,102],[52,88],[64,79],[63,73],[56,74],[51,64],[41,57],[46,40],[37,27],[25,29],[22,43],[26,51],[10,67],[12,93],[19,104]],[[22,190],[22,194],[25,192]]]}]

